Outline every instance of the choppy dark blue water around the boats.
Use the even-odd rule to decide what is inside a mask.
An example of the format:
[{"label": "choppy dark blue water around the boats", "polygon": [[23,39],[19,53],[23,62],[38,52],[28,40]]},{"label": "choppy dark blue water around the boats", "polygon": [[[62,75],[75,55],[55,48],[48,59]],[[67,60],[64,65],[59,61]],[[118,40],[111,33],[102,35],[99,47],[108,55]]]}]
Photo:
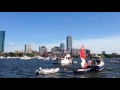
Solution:
[{"label": "choppy dark blue water around the boats", "polygon": [[[73,73],[74,68],[80,67],[80,59],[75,58],[77,64],[62,66],[52,64],[52,61],[38,59],[0,59],[0,78],[120,78],[120,63],[110,62],[112,59],[105,58],[105,68],[100,72],[88,72],[84,74]],[[35,70],[39,67],[59,67],[60,72],[49,75],[36,75]],[[64,71],[64,68],[67,70]]]}]

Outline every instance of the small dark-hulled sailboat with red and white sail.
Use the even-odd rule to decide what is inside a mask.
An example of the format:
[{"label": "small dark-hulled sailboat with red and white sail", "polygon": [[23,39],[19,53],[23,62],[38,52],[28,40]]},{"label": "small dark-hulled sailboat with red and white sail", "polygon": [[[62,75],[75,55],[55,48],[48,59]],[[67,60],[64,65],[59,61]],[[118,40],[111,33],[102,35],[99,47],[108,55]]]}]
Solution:
[{"label": "small dark-hulled sailboat with red and white sail", "polygon": [[90,71],[91,68],[87,68],[87,63],[86,63],[86,56],[84,53],[84,45],[82,44],[82,48],[80,49],[80,58],[82,60],[81,66],[82,68],[74,69],[74,73],[84,73]]}]

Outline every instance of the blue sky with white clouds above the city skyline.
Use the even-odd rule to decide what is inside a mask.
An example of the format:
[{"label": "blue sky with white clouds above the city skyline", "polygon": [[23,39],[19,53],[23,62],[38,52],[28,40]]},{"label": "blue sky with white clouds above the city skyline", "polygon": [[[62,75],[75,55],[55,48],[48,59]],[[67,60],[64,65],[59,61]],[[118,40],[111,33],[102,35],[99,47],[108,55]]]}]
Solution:
[{"label": "blue sky with white clouds above the city skyline", "polygon": [[120,54],[120,12],[0,12],[0,31],[5,31],[5,52],[48,51],[72,36],[72,47],[92,53]]}]

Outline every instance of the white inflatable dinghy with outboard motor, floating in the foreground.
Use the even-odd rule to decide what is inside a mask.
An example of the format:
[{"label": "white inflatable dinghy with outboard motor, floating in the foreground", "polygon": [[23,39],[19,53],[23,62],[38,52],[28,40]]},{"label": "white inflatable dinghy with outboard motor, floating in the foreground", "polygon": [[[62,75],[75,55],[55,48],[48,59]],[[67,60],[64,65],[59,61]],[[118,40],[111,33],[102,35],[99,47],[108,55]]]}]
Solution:
[{"label": "white inflatable dinghy with outboard motor, floating in the foreground", "polygon": [[39,67],[39,69],[35,71],[35,74],[51,74],[57,73],[59,72],[59,70],[59,68],[42,69],[41,67]]}]

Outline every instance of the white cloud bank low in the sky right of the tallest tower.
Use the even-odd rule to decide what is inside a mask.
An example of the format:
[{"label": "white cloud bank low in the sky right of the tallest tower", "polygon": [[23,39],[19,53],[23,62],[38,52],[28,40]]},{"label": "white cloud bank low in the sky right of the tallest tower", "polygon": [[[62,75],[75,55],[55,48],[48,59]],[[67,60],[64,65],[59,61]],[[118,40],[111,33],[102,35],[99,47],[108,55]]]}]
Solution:
[{"label": "white cloud bank low in the sky right of the tallest tower", "polygon": [[81,45],[84,44],[84,47],[90,49],[93,53],[102,53],[102,51],[109,54],[120,53],[120,36],[74,40],[73,44],[75,48],[81,48]]}]

